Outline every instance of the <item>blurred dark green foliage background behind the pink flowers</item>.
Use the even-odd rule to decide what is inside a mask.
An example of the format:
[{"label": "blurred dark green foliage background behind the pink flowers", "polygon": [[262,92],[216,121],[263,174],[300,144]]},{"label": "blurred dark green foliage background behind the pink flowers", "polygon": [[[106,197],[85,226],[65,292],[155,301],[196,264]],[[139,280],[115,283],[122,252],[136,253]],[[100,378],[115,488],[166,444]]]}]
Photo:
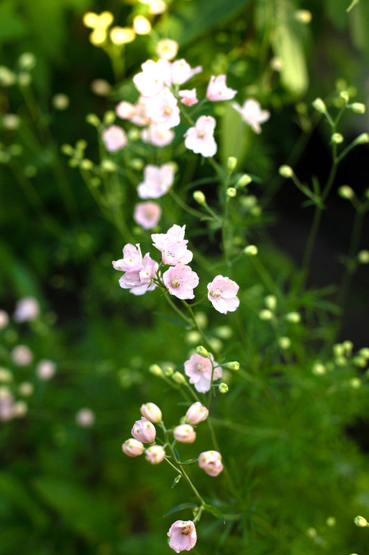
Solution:
[{"label": "blurred dark green foliage background behind the pink flowers", "polygon": [[[291,359],[271,349],[276,331],[258,318],[270,291],[249,261],[235,268],[234,275],[247,284],[242,292],[246,309],[238,319],[229,318],[235,330],[244,327],[247,352],[237,334],[224,339],[219,331],[224,318],[210,314],[204,305],[211,316],[208,332],[218,341],[219,352],[240,359],[247,370],[248,377],[234,389],[229,377],[231,391],[220,400],[225,423],[220,418],[218,422],[244,512],[240,521],[230,518],[226,527],[206,515],[195,554],[231,554],[235,549],[253,555],[368,552],[368,529],[353,524],[356,514],[369,514],[368,441],[361,432],[368,422],[368,390],[352,382],[360,371],[348,353],[349,362],[342,367],[331,350],[322,355],[324,363],[336,364],[334,378],[311,372],[337,309],[326,298],[329,291],[295,294],[296,261],[291,255],[300,261],[306,228],[297,234],[297,252],[291,230],[296,219],[311,221],[311,213],[300,207],[300,192],[278,177],[278,167],[286,161],[297,164],[303,178],[325,176],[330,129],[323,123],[317,128],[311,108],[316,96],[334,105],[337,95],[332,91],[350,88],[355,101],[366,102],[369,3],[361,0],[349,13],[347,8],[348,0],[174,0],[165,14],[152,17],[158,37],[177,40],[179,56],[204,67],[204,89],[211,74],[226,73],[228,85],[240,96],[256,96],[271,111],[260,139],[244,130],[236,140],[237,113],[227,106],[217,108],[219,158],[225,164],[229,155],[236,155],[240,169],[255,176],[251,192],[264,212],[260,219],[248,212],[254,201],[245,205],[238,214],[246,222],[244,234],[249,242],[262,241],[264,266],[276,287],[289,292],[278,310],[303,311],[307,321],[307,327],[285,323],[278,330],[279,336],[291,338]],[[303,9],[312,14],[309,24],[296,17]],[[29,555],[161,555],[168,549],[165,532],[172,522],[163,515],[188,498],[183,484],[170,489],[167,468],[149,468],[141,459],[123,460],[120,444],[139,417],[141,402],[158,402],[168,422],[177,422],[183,407],[147,368],[168,362],[180,369],[193,345],[183,327],[173,331],[162,317],[168,309],[159,296],[137,298],[118,287],[111,260],[120,257],[123,245],[141,242],[143,253],[150,248],[150,236],[132,219],[132,186],[120,185],[122,190],[112,199],[118,203],[118,215],[109,220],[61,151],[63,144],[75,146],[84,139],[87,157],[98,163],[96,129],[86,115],[102,118],[121,99],[133,99],[132,76],[154,56],[154,42],[138,36],[127,44],[125,75],[117,80],[107,53],[89,42],[90,31],[82,24],[87,10],[110,10],[120,26],[132,25],[135,15],[147,15],[147,6],[134,0],[0,4],[0,66],[16,76],[10,84],[6,71],[0,75],[1,308],[12,314],[24,296],[34,296],[41,305],[34,322],[13,322],[1,330],[0,364],[12,370],[14,387],[28,382],[35,390],[24,418],[0,422],[3,555],[25,549]],[[25,52],[36,60],[29,71],[20,61]],[[107,80],[107,94],[93,91],[96,79]],[[68,97],[65,110],[58,109],[57,94]],[[9,124],[9,114],[17,115],[19,125]],[[352,114],[343,119],[341,133],[356,137],[367,128],[366,116]],[[366,155],[344,167],[336,187],[347,182],[358,194],[368,187]],[[123,164],[123,154],[114,161]],[[209,175],[206,167],[184,156],[179,168],[196,179]],[[215,203],[211,191],[210,184],[206,193]],[[183,215],[172,198],[162,201],[164,230],[165,225],[181,223]],[[331,207],[338,223],[332,228],[328,220],[321,243],[343,233],[338,244],[334,237],[328,241],[328,256],[336,263],[337,251],[347,247],[351,219],[341,219],[348,210],[342,199],[332,200]],[[108,214],[110,209],[107,206]],[[117,227],[118,220],[125,221],[125,227]],[[186,223],[188,229],[197,226],[191,216]],[[203,226],[190,239],[217,262],[215,230]],[[313,261],[313,276],[319,261]],[[321,284],[336,284],[333,268]],[[206,268],[201,272],[207,275]],[[360,272],[355,291],[362,307],[368,273]],[[365,336],[366,329],[339,339],[352,339],[357,352],[366,347],[361,344]],[[19,343],[28,345],[34,360],[13,368],[10,353]],[[309,349],[303,347],[306,343]],[[35,363],[44,358],[57,364],[48,382],[35,375]],[[328,395],[331,390],[336,394]],[[82,407],[95,415],[90,427],[75,420]],[[231,421],[239,422],[238,427],[229,424],[232,433],[227,428]],[[196,456],[196,444],[187,454]],[[207,490],[210,499],[220,497],[222,511],[232,514],[222,479],[215,483],[197,474],[199,488]],[[184,512],[179,515],[188,518]]]}]

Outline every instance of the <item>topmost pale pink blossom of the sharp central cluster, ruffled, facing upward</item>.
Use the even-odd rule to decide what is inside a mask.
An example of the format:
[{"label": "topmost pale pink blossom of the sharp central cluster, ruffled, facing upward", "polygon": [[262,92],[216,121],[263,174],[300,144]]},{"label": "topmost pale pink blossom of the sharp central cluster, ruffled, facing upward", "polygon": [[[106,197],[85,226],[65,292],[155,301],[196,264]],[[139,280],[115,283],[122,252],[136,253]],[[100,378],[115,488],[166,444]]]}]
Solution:
[{"label": "topmost pale pink blossom of the sharp central cluster, ruffled, facing upward", "polygon": [[[188,264],[192,260],[192,252],[188,250],[188,239],[184,239],[186,225],[182,227],[174,223],[166,233],[152,233],[153,245],[161,251],[164,264]],[[195,287],[195,286],[194,286]]]}]

